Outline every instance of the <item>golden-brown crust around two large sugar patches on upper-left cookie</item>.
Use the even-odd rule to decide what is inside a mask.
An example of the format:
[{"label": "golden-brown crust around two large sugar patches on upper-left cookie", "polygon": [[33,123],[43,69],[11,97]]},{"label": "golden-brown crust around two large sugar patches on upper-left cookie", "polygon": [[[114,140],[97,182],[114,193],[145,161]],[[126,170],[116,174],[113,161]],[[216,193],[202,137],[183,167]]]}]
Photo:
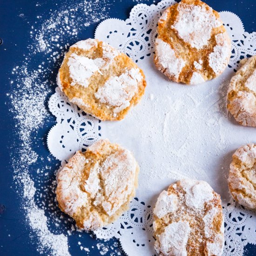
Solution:
[{"label": "golden-brown crust around two large sugar patches on upper-left cookie", "polygon": [[[92,46],[83,47],[82,43],[87,43],[88,40],[93,42]],[[58,85],[67,95],[68,99],[78,105],[86,113],[93,115],[102,121],[122,120],[128,113],[128,110],[133,105],[137,104],[144,94],[146,87],[145,75],[126,54],[118,52],[114,47],[110,47],[102,41],[94,39],[88,40],[79,41],[78,43],[81,43],[81,45],[77,46],[77,43],[70,47],[59,70],[57,79],[57,81],[59,81]],[[91,60],[95,60],[97,58],[99,60],[99,70],[94,71],[94,73],[88,78],[88,87],[74,81],[71,77],[72,75],[70,73],[68,61],[72,56],[74,56],[72,54],[84,56]],[[104,61],[105,64],[101,65]],[[115,105],[112,106],[111,104],[108,104],[108,102],[102,102],[102,99],[95,97],[95,93],[97,93],[99,88],[102,88],[109,79],[115,76],[120,77],[121,74],[127,73],[131,69],[136,71],[138,70],[141,79],[137,81],[136,91],[133,92],[133,95],[130,98],[128,97],[126,99],[126,101],[129,101],[129,106],[123,105],[124,109],[118,112],[116,111],[117,108]],[[132,80],[132,77],[129,75],[130,74],[128,74],[128,78]],[[129,90],[129,88],[125,88],[124,91],[125,90]]]}]

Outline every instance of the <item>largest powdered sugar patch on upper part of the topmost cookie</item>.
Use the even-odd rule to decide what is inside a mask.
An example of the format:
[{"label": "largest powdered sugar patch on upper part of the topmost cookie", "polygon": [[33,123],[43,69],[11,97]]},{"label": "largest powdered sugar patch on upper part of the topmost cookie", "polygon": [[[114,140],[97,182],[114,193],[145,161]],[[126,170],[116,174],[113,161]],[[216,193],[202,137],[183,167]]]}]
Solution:
[{"label": "largest powdered sugar patch on upper part of the topmost cookie", "polygon": [[172,28],[185,42],[197,49],[201,49],[208,43],[212,28],[222,25],[219,20],[216,20],[212,8],[207,10],[204,6],[181,2],[177,10],[179,14]]}]

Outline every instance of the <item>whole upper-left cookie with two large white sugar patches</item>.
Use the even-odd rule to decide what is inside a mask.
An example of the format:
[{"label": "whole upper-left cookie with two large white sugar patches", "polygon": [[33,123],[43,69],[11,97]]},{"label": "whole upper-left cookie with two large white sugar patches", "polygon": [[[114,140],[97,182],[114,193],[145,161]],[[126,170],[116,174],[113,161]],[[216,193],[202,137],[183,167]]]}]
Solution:
[{"label": "whole upper-left cookie with two large white sugar patches", "polygon": [[121,120],[144,94],[143,71],[126,55],[96,39],[69,48],[57,76],[69,101],[100,120]]}]

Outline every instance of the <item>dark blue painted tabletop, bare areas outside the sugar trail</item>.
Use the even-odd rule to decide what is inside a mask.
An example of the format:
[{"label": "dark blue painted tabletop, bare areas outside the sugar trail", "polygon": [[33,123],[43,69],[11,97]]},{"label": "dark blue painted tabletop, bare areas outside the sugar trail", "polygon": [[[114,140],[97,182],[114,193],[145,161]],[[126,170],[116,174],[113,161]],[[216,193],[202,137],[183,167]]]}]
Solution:
[{"label": "dark blue painted tabletop, bare areas outside the sugar trail", "polygon": [[[68,1],[72,5],[73,0]],[[75,1],[74,1],[75,2]],[[151,4],[155,1],[145,0],[142,3]],[[157,1],[156,1],[157,2]],[[231,11],[236,13],[242,20],[245,27],[245,31],[251,33],[256,31],[256,5],[255,0],[206,0],[206,3],[217,11]],[[39,4],[38,4],[39,3]],[[27,51],[27,45],[30,44],[30,30],[31,26],[39,25],[37,16],[43,16],[47,19],[49,16],[49,10],[57,10],[63,2],[57,0],[1,0],[0,2],[0,38],[3,43],[0,45],[0,78],[1,78],[1,90],[0,90],[0,255],[1,256],[30,256],[40,255],[36,250],[37,241],[31,241],[29,237],[29,229],[25,223],[24,212],[22,209],[22,203],[19,195],[15,191],[15,185],[13,184],[13,169],[12,161],[10,157],[11,146],[20,147],[18,136],[15,132],[15,122],[13,116],[10,115],[8,109],[10,102],[6,96],[10,92],[10,77],[11,71],[16,65],[23,60],[24,54]],[[128,18],[129,11],[137,4],[133,0],[116,0],[109,1],[110,9],[108,14],[110,17],[119,18],[125,20]],[[101,4],[99,5],[101,7]],[[103,7],[103,3],[102,3]],[[19,16],[23,13],[23,19]],[[37,22],[37,23],[36,23]],[[79,38],[88,38],[94,36],[94,30],[98,24],[92,24],[87,29],[84,29],[82,34],[79,34]],[[38,61],[43,61],[43,57],[39,57],[38,60],[34,60],[34,67],[38,66]],[[56,70],[54,70],[56,72]],[[55,118],[52,117],[47,121],[45,127],[41,128],[38,136],[43,138],[45,142],[46,134],[54,125]],[[40,151],[40,155],[43,158],[49,156],[49,152],[39,140],[37,150]],[[58,161],[52,159],[53,171],[56,168]],[[42,162],[39,162],[34,168],[40,168]],[[76,232],[69,237],[70,253],[71,255],[84,255],[85,252],[81,251],[77,243],[79,241],[80,233]],[[89,255],[100,255],[99,250],[96,248],[95,238],[88,234],[83,234],[83,243],[86,243],[90,249]],[[112,239],[106,243],[113,244],[116,239]],[[121,255],[125,255],[121,248],[119,249]],[[109,251],[106,255],[113,253],[109,247]],[[115,249],[115,254],[117,250]],[[113,255],[113,254],[112,254]],[[256,246],[247,245],[244,255],[256,255]]]}]

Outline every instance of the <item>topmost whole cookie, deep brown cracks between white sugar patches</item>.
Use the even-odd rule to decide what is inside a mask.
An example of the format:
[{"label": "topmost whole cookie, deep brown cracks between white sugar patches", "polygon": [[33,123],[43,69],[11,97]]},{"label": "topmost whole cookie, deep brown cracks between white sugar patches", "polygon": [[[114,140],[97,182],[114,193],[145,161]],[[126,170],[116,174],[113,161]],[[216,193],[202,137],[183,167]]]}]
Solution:
[{"label": "topmost whole cookie, deep brown cracks between white sugar patches", "polygon": [[219,14],[200,0],[168,7],[158,21],[155,66],[170,80],[200,84],[229,63],[231,43]]}]

